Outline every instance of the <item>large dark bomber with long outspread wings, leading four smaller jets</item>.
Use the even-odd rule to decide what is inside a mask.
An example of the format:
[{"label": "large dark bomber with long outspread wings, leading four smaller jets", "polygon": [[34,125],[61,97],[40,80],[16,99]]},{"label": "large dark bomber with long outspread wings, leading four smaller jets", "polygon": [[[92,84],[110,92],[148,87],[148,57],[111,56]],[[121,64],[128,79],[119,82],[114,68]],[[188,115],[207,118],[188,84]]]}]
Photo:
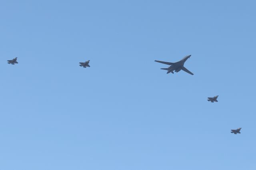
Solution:
[{"label": "large dark bomber with long outspread wings, leading four smaller jets", "polygon": [[165,62],[165,61],[157,61],[155,60],[156,62],[158,63],[163,63],[163,64],[167,64],[167,65],[170,65],[170,67],[168,68],[162,68],[162,70],[167,70],[167,74],[168,73],[172,73],[174,74],[173,71],[175,72],[179,72],[180,70],[183,70],[183,71],[186,71],[187,73],[191,74],[191,75],[194,75],[193,73],[191,73],[188,69],[186,69],[184,67],[184,63],[187,61],[188,58],[190,58],[191,55],[187,55],[186,57],[184,57],[182,60],[176,62],[176,63],[169,63],[169,62]]}]

